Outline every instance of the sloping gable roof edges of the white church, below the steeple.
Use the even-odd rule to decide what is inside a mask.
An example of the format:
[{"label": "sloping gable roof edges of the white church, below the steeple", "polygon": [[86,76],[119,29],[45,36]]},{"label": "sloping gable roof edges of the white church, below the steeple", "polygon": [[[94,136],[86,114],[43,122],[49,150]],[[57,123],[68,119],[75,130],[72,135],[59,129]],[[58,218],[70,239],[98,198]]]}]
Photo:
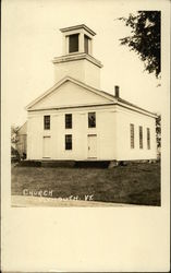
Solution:
[{"label": "sloping gable roof edges of the white church, below the steeple", "polygon": [[[85,84],[85,83],[83,83],[83,82],[81,82],[78,80],[75,80],[75,79],[73,79],[71,76],[63,78],[61,81],[59,81],[58,83],[56,83],[51,88],[49,88],[48,91],[46,91],[45,93],[42,93],[40,96],[38,96],[36,99],[34,99],[30,104],[28,104],[25,107],[26,110],[29,110],[35,104],[37,104],[38,102],[40,102],[46,96],[50,95],[54,90],[57,90],[58,87],[60,87],[62,84],[64,84],[68,81],[72,82],[74,84],[77,84],[78,86],[84,87],[84,88],[88,90],[89,92],[91,92],[91,93],[94,93],[96,95],[99,95],[99,96],[101,96],[103,98],[109,99],[111,102],[111,103],[109,103],[110,105],[111,104],[120,105],[120,106],[130,108],[132,110],[136,110],[136,111],[139,111],[139,112],[143,112],[143,114],[145,114],[147,116],[152,116],[154,118],[157,117],[157,115],[155,112],[151,112],[151,111],[148,111],[148,110],[146,110],[144,108],[141,108],[139,106],[134,105],[134,104],[132,104],[132,103],[130,103],[130,102],[127,102],[127,100],[125,100],[125,99],[123,99],[121,97],[117,97],[117,96],[114,96],[112,94],[109,94],[109,93],[107,93],[105,91],[95,88],[95,87],[93,87],[93,86],[90,86],[88,84]],[[84,105],[83,105],[83,107],[84,107]]]}]

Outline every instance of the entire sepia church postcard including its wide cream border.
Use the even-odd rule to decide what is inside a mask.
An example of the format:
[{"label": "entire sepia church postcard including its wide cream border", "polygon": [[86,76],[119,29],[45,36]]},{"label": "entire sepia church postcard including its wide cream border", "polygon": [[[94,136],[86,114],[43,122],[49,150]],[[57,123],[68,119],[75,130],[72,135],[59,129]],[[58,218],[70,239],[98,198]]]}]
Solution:
[{"label": "entire sepia church postcard including its wide cream border", "polygon": [[[106,214],[100,219],[103,225],[109,228],[111,221],[111,227],[117,230],[113,234],[110,230],[117,241],[111,248],[115,249],[119,259],[114,263],[106,250],[106,262],[97,254],[95,260],[100,260],[99,264],[96,262],[90,270],[141,272],[162,269],[166,272],[168,240],[162,237],[164,232],[160,237],[157,230],[164,230],[160,227],[161,223],[164,224],[163,215],[169,219],[170,27],[167,10],[170,4],[168,1],[151,2],[2,1],[2,127],[5,128],[2,138],[5,147],[2,192],[3,189],[7,192],[2,194],[2,201],[11,215],[9,223],[15,226],[11,233],[14,234],[19,226],[19,230],[23,230],[21,237],[16,233],[17,242],[21,241],[19,246],[23,246],[22,238],[29,233],[29,228],[35,233],[34,238],[36,234],[42,235],[40,230],[41,227],[45,229],[45,223],[51,223],[48,236],[51,234],[52,241],[58,241],[53,240],[56,236],[60,240],[63,237],[61,232],[52,237],[57,223],[61,225],[60,230],[64,230],[73,226],[72,217],[78,225],[84,223],[81,217],[85,221],[87,217],[84,227],[89,228],[89,221],[94,223],[101,213]],[[163,211],[166,207],[167,211]],[[52,214],[48,215],[46,209],[54,215],[51,222],[47,222],[46,217]],[[64,224],[64,218],[69,221],[65,213],[70,211],[63,209],[71,210],[69,226]],[[78,218],[74,210],[81,210]],[[162,216],[157,216],[159,213]],[[134,214],[138,215],[134,217]],[[15,215],[22,215],[20,222]],[[126,221],[129,215],[130,222]],[[105,221],[106,217],[108,219]],[[155,217],[158,217],[156,222]],[[26,227],[26,223],[33,223],[33,227],[28,227],[29,224]],[[96,225],[99,228],[100,222],[97,221]],[[126,225],[127,230],[124,230]],[[152,235],[154,226],[157,229]],[[119,233],[122,229],[124,232]],[[7,227],[4,235],[5,230]],[[77,233],[77,229],[74,230]],[[81,230],[78,228],[78,233]],[[93,230],[89,230],[90,236],[97,229]],[[142,240],[137,242],[141,233]],[[122,238],[121,245],[117,234]],[[133,242],[127,242],[127,247],[134,246],[131,247],[130,258],[126,254],[130,250],[124,244],[124,238],[129,238],[126,234],[134,234],[136,238],[134,241],[132,237]],[[105,232],[103,238],[107,235],[108,232]],[[156,241],[155,238],[159,237]],[[152,238],[148,240],[150,247],[144,246],[147,238]],[[166,244],[163,249],[167,256],[154,252],[150,264],[147,262],[149,253],[162,245],[161,240]],[[28,249],[32,249],[30,242]],[[27,252],[19,256],[20,260],[24,256],[30,261],[28,268],[25,268],[23,258],[19,266],[13,260],[8,270],[46,272],[54,268],[54,272],[89,272],[89,260],[84,254],[81,256],[83,260],[73,259],[73,266],[70,262],[66,266],[64,262],[72,259],[69,253],[56,264],[54,249],[50,249],[52,256],[47,258],[49,242],[44,244],[46,258],[42,258],[42,264],[47,259],[47,266],[38,266],[38,261],[34,263],[36,258],[30,258],[39,249],[37,245],[33,253],[29,250],[29,258]],[[10,239],[9,244],[13,252],[15,244]],[[64,249],[64,244],[61,246]],[[124,251],[121,246],[125,247]],[[127,259],[125,263],[122,263],[122,251]],[[141,251],[146,257],[145,265]],[[134,263],[136,252],[137,266]],[[59,259],[63,259],[62,253],[59,252]],[[102,252],[100,256],[103,257]],[[158,256],[161,258],[159,265],[155,264]],[[8,257],[10,259],[11,256]],[[41,260],[40,257],[38,259]],[[76,252],[75,259],[78,259]],[[82,261],[86,266],[82,268]]]}]

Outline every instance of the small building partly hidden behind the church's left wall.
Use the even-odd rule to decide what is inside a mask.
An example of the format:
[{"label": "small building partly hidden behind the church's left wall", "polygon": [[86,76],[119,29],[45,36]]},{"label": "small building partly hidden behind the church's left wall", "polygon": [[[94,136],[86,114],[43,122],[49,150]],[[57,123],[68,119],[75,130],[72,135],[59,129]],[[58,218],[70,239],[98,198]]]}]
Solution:
[{"label": "small building partly hidden behind the church's left wall", "polygon": [[16,132],[17,142],[15,144],[20,156],[27,154],[27,121],[21,126]]}]

